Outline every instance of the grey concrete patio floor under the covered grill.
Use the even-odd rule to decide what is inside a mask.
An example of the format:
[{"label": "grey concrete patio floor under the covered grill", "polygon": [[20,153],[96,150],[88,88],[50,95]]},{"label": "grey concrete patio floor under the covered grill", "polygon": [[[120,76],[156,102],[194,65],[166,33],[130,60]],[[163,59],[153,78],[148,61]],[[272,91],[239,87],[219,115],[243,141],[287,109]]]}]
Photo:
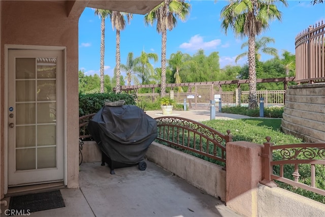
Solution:
[{"label": "grey concrete patio floor under the covered grill", "polygon": [[80,189],[60,190],[66,207],[29,216],[240,216],[217,198],[146,163],[145,171],[132,166],[115,169],[115,175],[101,162],[83,163]]}]

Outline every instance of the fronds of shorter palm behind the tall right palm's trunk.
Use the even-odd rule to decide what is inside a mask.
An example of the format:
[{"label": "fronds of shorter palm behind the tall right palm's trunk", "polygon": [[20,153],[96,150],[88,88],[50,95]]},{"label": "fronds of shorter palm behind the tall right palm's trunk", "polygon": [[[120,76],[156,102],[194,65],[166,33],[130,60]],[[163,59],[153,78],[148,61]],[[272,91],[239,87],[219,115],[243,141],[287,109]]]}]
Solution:
[{"label": "fronds of shorter palm behind the tall right palm's trunk", "polygon": [[[261,60],[261,52],[274,56],[275,58],[278,57],[278,50],[276,48],[273,47],[267,47],[268,44],[270,43],[275,43],[275,40],[273,38],[270,37],[266,37],[263,36],[260,39],[256,39],[255,40],[255,58],[259,61]],[[243,49],[244,47],[248,46],[248,41],[244,42],[241,46],[241,49]],[[238,56],[236,56],[235,62],[237,63],[237,61],[245,56],[248,55],[248,52],[244,52],[239,54]]]}]

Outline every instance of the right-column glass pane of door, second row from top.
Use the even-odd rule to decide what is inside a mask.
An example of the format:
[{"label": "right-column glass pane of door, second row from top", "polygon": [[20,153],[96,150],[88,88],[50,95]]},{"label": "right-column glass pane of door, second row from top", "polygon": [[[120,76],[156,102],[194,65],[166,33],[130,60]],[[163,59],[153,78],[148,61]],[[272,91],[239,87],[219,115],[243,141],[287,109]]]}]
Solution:
[{"label": "right-column glass pane of door, second row from top", "polygon": [[54,101],[55,93],[55,80],[42,80],[37,82],[38,101]]}]

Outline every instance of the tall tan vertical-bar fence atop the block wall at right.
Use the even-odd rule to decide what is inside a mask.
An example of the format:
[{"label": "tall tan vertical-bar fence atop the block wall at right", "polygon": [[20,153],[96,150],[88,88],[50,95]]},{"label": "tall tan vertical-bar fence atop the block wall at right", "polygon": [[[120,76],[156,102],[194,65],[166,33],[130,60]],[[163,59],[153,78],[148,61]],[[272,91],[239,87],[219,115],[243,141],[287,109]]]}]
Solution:
[{"label": "tall tan vertical-bar fence atop the block wall at right", "polygon": [[325,81],[325,23],[309,26],[296,37],[296,82]]}]

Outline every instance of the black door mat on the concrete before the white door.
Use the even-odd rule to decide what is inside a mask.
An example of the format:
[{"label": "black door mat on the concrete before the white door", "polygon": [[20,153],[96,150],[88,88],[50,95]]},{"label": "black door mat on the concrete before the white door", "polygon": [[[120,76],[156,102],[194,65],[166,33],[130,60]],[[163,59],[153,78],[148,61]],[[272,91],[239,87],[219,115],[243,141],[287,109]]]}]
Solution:
[{"label": "black door mat on the concrete before the white door", "polygon": [[60,190],[10,198],[9,209],[24,213],[65,207]]}]

